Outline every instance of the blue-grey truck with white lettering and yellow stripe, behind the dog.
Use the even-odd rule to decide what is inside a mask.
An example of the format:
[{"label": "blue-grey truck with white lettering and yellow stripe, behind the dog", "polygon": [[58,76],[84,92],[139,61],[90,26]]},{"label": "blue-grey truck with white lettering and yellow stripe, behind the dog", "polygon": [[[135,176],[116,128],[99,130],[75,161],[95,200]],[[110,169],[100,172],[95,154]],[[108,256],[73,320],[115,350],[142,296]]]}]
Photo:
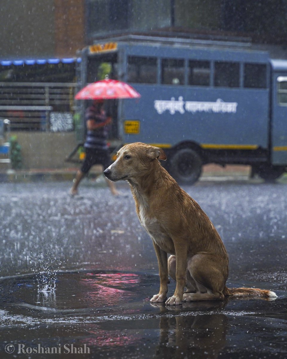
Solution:
[{"label": "blue-grey truck with white lettering and yellow stripe, behind the dog", "polygon": [[107,101],[112,143],[163,148],[179,182],[196,182],[207,163],[251,165],[264,180],[286,171],[287,60],[244,42],[146,36],[105,39],[79,56],[79,88],[108,74],[141,94]]}]

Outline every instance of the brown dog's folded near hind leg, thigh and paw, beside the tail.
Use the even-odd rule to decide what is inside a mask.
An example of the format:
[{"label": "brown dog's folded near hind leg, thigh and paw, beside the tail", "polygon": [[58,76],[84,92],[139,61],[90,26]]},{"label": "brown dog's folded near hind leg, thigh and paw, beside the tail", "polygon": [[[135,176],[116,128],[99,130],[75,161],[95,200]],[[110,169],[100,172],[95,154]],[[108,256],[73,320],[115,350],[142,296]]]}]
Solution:
[{"label": "brown dog's folded near hind leg, thigh and paw, beside the tail", "polygon": [[[185,293],[186,302],[197,300],[223,300],[224,288],[227,279],[225,263],[218,264],[216,258],[207,254],[197,254],[188,261],[188,271],[193,278],[196,293]],[[223,268],[222,268],[223,267]]]}]

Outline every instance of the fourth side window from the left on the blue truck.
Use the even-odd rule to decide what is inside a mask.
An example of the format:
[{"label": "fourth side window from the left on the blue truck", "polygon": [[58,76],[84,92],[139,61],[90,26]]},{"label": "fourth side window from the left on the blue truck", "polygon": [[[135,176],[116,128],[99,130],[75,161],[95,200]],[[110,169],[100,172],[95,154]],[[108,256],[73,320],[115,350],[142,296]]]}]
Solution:
[{"label": "fourth side window from the left on the blue truck", "polygon": [[214,85],[217,87],[239,87],[239,63],[215,61]]}]

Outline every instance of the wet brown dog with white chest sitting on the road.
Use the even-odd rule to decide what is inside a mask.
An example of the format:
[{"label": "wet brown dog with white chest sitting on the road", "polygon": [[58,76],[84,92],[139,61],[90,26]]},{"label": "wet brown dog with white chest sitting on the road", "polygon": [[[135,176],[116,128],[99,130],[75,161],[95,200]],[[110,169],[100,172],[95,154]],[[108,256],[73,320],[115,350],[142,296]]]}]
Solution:
[{"label": "wet brown dog with white chest sitting on the road", "polygon": [[[177,285],[166,304],[222,300],[227,295],[277,297],[270,290],[226,287],[228,255],[224,244],[197,202],[161,166],[159,160],[165,159],[160,148],[132,143],[123,146],[117,160],[104,171],[111,181],[130,183],[138,218],[153,240],[160,290],[150,301],[165,301],[168,274]],[[167,253],[171,254],[169,259]]]}]

